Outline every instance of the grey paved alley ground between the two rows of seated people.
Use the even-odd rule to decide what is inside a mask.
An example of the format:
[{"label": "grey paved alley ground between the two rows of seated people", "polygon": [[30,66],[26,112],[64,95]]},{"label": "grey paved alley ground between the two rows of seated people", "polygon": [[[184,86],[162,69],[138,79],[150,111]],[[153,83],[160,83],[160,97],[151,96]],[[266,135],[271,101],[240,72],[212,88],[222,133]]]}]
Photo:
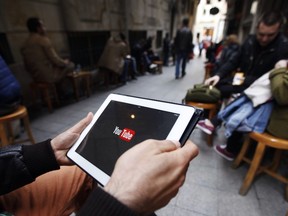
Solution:
[{"label": "grey paved alley ground between the two rows of seated people", "polygon": [[[37,142],[52,138],[74,125],[89,111],[95,112],[109,93],[122,93],[181,103],[188,88],[203,81],[203,60],[197,57],[187,64],[187,74],[175,80],[174,66],[163,67],[160,75],[147,74],[118,88],[95,89],[89,98],[81,98],[69,106],[43,113],[31,119]],[[238,194],[247,166],[234,170],[231,162],[218,156],[206,145],[206,136],[195,129],[190,139],[198,145],[199,156],[191,162],[186,182],[178,195],[159,216],[284,216],[288,204],[284,200],[284,184],[261,176],[246,196]],[[225,141],[221,130],[214,144]]]}]

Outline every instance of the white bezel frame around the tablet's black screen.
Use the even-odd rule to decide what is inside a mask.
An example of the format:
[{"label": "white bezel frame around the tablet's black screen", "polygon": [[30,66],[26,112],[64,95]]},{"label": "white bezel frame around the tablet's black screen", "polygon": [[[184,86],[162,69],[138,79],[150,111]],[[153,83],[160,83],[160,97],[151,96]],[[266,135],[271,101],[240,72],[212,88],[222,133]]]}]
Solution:
[{"label": "white bezel frame around the tablet's black screen", "polygon": [[[82,155],[76,152],[76,149],[84,140],[86,135],[92,129],[94,124],[97,122],[97,119],[101,116],[103,111],[106,109],[108,104],[111,101],[118,101],[122,103],[128,103],[132,105],[152,108],[156,110],[162,110],[166,112],[178,113],[179,116],[174,123],[172,129],[170,130],[167,140],[181,140],[181,137],[186,131],[186,128],[189,126],[192,117],[195,115],[196,109],[192,106],[186,106],[183,104],[176,104],[170,102],[164,102],[159,100],[140,98],[130,95],[122,95],[122,94],[110,94],[105,101],[102,103],[100,108],[94,114],[93,120],[91,123],[84,129],[81,133],[79,139],[76,143],[71,147],[71,149],[67,152],[67,157],[74,161],[80,168],[82,168],[85,172],[91,175],[94,179],[96,179],[102,186],[105,186],[110,179],[110,176],[107,175],[104,171],[96,167],[94,164],[86,160]],[[194,127],[194,126],[193,126]],[[186,140],[183,140],[185,142]],[[184,144],[184,143],[181,143]]]}]

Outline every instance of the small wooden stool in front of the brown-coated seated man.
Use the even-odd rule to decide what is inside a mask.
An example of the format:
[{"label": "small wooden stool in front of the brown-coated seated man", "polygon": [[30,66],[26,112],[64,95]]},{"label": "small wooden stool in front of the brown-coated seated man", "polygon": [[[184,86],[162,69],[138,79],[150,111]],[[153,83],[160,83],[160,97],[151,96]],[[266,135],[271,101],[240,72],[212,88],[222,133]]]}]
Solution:
[{"label": "small wooden stool in front of the brown-coated seated man", "polygon": [[73,72],[69,73],[67,77],[72,81],[76,101],[78,101],[80,97],[79,83],[81,80],[85,81],[85,93],[87,97],[91,95],[91,77],[92,77],[91,72],[88,71]]}]

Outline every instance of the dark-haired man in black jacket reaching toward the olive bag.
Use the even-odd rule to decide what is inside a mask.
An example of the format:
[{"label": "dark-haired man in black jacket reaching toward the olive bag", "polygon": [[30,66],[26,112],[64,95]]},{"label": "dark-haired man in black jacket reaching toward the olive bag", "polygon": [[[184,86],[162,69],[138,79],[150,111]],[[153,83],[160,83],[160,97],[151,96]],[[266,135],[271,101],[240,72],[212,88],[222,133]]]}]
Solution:
[{"label": "dark-haired man in black jacket reaching toward the olive bag", "polygon": [[[250,35],[239,51],[232,55],[216,74],[205,84],[216,86],[222,98],[242,93],[256,79],[273,69],[277,61],[288,58],[288,40],[280,32],[283,24],[281,13],[267,12],[262,15],[256,27],[256,34]],[[244,73],[243,83],[233,84],[233,72]]]}]

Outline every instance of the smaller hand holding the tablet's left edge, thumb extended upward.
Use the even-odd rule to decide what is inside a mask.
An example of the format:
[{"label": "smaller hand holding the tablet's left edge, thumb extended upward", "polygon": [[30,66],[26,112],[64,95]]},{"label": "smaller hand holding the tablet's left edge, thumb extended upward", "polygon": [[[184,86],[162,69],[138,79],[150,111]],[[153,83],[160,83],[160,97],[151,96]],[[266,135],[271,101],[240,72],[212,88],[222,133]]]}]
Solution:
[{"label": "smaller hand holding the tablet's left edge, thumb extended upward", "polygon": [[85,118],[83,118],[73,127],[51,140],[51,146],[59,165],[72,165],[72,162],[66,157],[66,153],[76,142],[81,132],[88,126],[92,119],[93,114],[89,112]]}]

